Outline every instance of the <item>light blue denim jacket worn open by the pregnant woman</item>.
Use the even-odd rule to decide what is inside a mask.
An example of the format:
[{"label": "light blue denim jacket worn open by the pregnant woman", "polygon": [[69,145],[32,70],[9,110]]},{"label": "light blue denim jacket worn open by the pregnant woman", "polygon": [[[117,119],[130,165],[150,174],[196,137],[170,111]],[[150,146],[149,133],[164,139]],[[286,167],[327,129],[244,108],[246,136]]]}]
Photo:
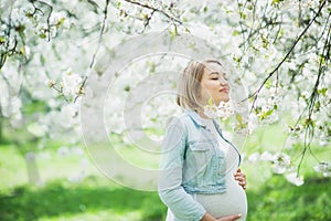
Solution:
[{"label": "light blue denim jacket worn open by the pregnant woman", "polygon": [[159,196],[175,220],[201,220],[206,211],[192,194],[225,192],[225,170],[224,152],[197,113],[188,109],[170,123],[162,144]]}]

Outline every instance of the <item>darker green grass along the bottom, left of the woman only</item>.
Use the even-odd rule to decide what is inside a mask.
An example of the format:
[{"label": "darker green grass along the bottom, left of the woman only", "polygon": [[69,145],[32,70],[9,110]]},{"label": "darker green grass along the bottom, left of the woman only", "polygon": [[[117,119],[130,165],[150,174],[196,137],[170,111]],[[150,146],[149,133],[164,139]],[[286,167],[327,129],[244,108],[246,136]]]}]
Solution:
[{"label": "darker green grass along the bottom, left of the woman only", "polygon": [[44,187],[20,186],[0,197],[0,220],[158,220],[166,212],[156,192],[116,186],[100,177]]}]

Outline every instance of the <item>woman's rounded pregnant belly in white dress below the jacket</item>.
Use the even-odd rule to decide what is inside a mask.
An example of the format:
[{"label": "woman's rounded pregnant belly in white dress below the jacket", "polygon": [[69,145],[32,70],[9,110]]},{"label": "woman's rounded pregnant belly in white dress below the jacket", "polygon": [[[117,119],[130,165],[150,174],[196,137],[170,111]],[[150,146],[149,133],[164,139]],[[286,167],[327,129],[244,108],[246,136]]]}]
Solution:
[{"label": "woman's rounded pregnant belly in white dress below the jacket", "polygon": [[245,220],[247,215],[246,192],[232,175],[226,178],[226,192],[196,194],[196,201],[214,218],[241,213],[242,219],[239,220]]}]

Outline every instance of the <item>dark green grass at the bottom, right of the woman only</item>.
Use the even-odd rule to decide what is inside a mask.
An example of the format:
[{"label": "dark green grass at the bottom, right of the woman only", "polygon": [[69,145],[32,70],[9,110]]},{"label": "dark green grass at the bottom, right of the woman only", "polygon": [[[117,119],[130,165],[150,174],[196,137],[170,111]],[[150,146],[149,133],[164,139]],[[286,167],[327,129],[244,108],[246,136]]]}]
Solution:
[{"label": "dark green grass at the bottom, right of the woman only", "polygon": [[247,220],[331,220],[331,180],[308,179],[295,187],[275,176],[256,191],[247,191]]}]

